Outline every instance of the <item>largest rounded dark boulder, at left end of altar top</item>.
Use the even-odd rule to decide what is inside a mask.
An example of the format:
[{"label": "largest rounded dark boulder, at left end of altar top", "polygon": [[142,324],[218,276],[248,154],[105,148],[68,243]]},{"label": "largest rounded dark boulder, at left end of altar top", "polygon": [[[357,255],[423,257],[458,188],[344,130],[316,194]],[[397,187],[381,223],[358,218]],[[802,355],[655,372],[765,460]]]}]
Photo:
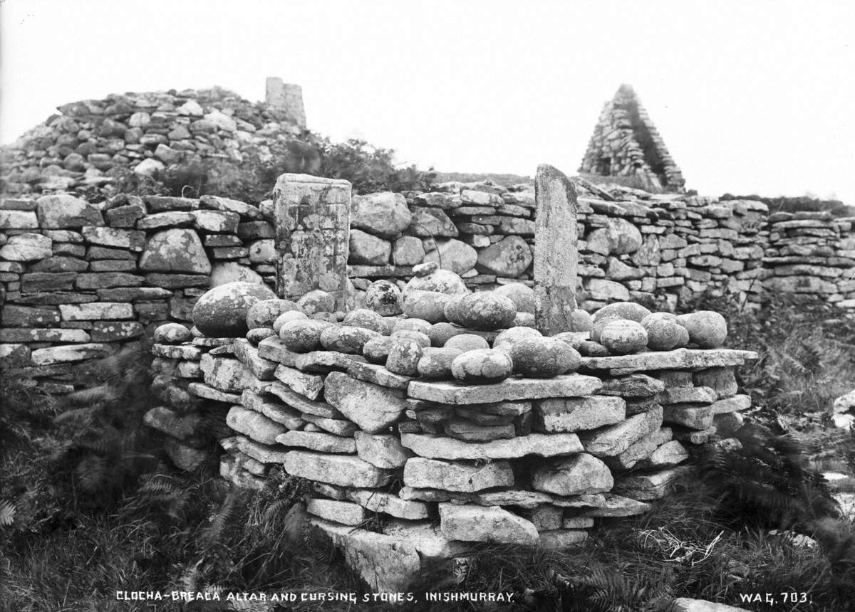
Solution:
[{"label": "largest rounded dark boulder, at left end of altar top", "polygon": [[193,306],[193,324],[211,337],[237,338],[246,334],[246,315],[251,306],[276,295],[267,285],[226,283],[210,289]]}]

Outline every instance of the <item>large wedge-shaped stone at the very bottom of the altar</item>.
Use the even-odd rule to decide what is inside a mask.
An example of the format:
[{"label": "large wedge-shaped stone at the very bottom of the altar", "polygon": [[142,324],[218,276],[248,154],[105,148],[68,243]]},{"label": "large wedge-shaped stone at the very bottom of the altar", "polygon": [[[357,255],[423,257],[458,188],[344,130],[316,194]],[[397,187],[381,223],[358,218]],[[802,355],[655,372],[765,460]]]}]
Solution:
[{"label": "large wedge-shaped stone at the very bottom of the altar", "polygon": [[416,546],[398,535],[354,529],[320,518],[311,519],[310,525],[342,551],[347,565],[372,592],[404,592],[421,574],[422,557]]}]

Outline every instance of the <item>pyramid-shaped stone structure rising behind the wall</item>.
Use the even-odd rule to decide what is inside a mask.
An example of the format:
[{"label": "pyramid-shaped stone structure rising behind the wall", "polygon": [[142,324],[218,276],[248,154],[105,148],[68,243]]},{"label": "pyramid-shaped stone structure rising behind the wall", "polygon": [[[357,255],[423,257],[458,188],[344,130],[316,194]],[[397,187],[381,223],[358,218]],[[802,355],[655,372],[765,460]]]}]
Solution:
[{"label": "pyramid-shaped stone structure rising behind the wall", "polygon": [[606,102],[579,172],[636,177],[644,189],[682,193],[686,181],[631,85]]}]

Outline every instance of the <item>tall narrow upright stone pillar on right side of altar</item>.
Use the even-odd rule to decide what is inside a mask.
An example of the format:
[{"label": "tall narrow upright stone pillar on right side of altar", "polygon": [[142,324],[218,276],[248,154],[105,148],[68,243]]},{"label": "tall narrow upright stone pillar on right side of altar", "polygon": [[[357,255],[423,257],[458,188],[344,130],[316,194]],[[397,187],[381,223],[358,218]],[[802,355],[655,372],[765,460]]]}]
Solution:
[{"label": "tall narrow upright stone pillar on right side of altar", "polygon": [[541,164],[534,178],[534,323],[543,335],[572,329],[579,251],[576,190],[563,172]]}]

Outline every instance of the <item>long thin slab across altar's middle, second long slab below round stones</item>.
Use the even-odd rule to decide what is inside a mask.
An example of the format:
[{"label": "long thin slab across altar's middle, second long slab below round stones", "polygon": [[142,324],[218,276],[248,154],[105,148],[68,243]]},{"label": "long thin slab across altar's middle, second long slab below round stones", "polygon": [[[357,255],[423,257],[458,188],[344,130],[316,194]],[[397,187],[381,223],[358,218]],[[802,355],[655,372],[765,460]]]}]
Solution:
[{"label": "long thin slab across altar's middle, second long slab below round stones", "polygon": [[513,459],[537,455],[554,457],[582,452],[576,434],[528,434],[510,440],[465,442],[427,434],[401,434],[401,445],[431,459]]}]

